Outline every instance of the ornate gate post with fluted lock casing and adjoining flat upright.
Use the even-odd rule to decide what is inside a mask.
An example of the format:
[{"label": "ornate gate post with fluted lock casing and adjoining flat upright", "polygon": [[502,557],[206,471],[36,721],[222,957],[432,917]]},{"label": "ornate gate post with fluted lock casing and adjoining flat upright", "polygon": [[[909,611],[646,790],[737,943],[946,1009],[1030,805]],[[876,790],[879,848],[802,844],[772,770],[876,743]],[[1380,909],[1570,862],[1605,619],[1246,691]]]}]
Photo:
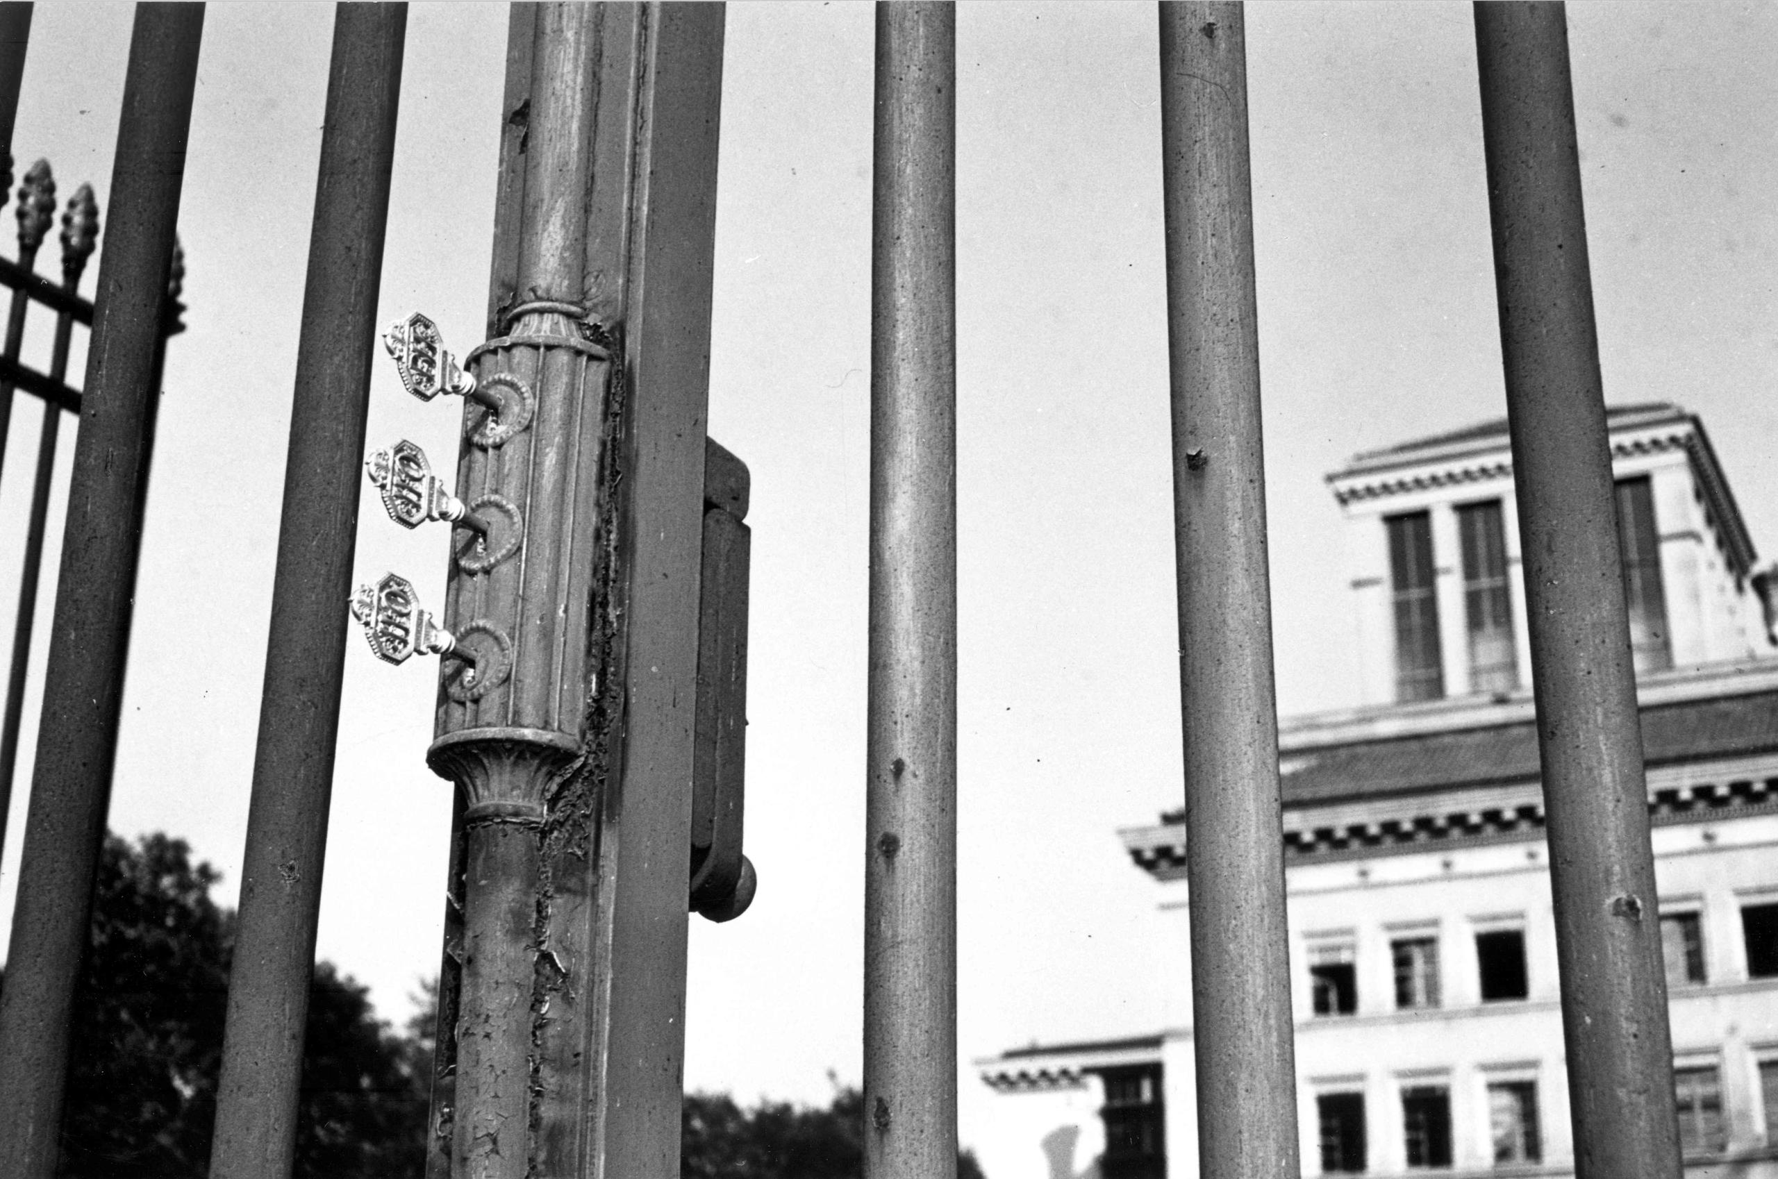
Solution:
[{"label": "ornate gate post with fluted lock casing and adjoining flat upright", "polygon": [[722,7],[514,5],[510,37],[455,482],[487,526],[453,535],[428,752],[462,804],[428,1174],[669,1179]]}]

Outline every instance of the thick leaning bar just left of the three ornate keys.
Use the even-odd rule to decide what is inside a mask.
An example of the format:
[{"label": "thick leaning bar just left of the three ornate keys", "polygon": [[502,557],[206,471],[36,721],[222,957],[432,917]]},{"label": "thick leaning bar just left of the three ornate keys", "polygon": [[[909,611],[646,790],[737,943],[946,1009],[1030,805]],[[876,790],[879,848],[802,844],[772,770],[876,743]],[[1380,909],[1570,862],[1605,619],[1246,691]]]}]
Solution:
[{"label": "thick leaning bar just left of the three ornate keys", "polygon": [[405,4],[334,9],[213,1179],[295,1151],[405,30]]}]

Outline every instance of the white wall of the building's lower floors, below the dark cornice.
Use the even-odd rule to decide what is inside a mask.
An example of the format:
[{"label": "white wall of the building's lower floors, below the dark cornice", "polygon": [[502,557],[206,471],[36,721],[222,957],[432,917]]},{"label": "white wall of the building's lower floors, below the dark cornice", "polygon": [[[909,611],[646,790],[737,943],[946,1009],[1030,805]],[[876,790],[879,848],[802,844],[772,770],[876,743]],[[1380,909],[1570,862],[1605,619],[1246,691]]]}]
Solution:
[{"label": "white wall of the building's lower floors, below the dark cornice", "polygon": [[[1778,900],[1778,814],[1659,827],[1661,903],[1702,914],[1707,982],[1671,992],[1675,1056],[1721,1072],[1728,1152],[1737,1175],[1778,1175],[1758,1088],[1758,1060],[1778,1056],[1778,978],[1750,980],[1741,905]],[[1172,941],[1188,939],[1186,884],[1163,884]],[[1319,1174],[1316,1097],[1362,1092],[1367,1174],[1406,1172],[1401,1090],[1446,1085],[1453,1165],[1494,1170],[1490,1081],[1536,1083],[1543,1165],[1518,1174],[1572,1174],[1572,1131],[1563,1063],[1561,1003],[1547,852],[1542,841],[1497,843],[1412,855],[1298,864],[1287,871],[1298,1119],[1305,1174]],[[1526,999],[1483,1003],[1476,932],[1522,923]],[[1396,1010],[1390,939],[1435,934],[1440,1007]],[[1316,1017],[1309,946],[1330,935],[1357,941],[1358,1010]],[[1177,1051],[1173,1046],[1179,1046]],[[1168,1174],[1197,1174],[1189,1035],[1168,1040]],[[1726,1174],[1726,1172],[1725,1172]]]}]

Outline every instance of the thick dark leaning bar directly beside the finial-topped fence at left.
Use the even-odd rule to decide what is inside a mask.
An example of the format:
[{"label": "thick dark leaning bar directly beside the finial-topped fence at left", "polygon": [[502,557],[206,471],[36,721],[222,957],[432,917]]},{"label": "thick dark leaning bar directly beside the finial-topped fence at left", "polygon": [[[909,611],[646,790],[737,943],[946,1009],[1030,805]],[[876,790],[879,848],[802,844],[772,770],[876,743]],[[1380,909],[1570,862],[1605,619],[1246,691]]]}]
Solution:
[{"label": "thick dark leaning bar directly beside the finial-topped fence at left", "polygon": [[190,130],[201,4],[135,11],[69,485],[55,626],[0,992],[0,1174],[50,1179],[69,1014],[117,749],[137,469]]}]

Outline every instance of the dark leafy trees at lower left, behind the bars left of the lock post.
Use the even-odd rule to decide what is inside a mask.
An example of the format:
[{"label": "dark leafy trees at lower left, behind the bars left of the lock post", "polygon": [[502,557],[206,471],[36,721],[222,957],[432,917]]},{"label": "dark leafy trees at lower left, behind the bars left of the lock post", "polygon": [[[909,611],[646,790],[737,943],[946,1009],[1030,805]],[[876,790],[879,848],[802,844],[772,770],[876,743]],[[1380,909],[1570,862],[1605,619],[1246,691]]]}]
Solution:
[{"label": "dark leafy trees at lower left, behind the bars left of the lock post", "polygon": [[[228,1012],[233,914],[217,873],[162,834],[107,838],[75,996],[62,1117],[66,1179],[201,1179]],[[391,1035],[364,987],[315,969],[297,1117],[302,1177],[420,1175],[421,1046]]]}]

